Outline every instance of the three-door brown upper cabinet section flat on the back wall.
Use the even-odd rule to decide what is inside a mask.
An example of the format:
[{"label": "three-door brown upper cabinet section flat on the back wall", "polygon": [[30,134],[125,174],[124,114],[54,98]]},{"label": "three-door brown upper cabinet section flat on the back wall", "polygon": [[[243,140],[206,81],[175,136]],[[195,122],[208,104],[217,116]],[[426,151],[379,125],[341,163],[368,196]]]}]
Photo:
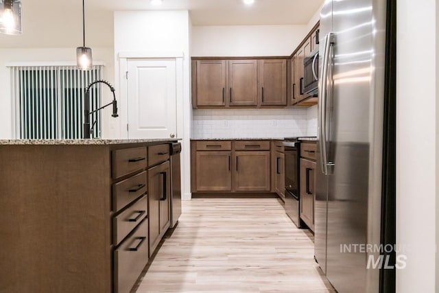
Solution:
[{"label": "three-door brown upper cabinet section flat on the back wall", "polygon": [[286,105],[286,58],[192,60],[193,108]]}]

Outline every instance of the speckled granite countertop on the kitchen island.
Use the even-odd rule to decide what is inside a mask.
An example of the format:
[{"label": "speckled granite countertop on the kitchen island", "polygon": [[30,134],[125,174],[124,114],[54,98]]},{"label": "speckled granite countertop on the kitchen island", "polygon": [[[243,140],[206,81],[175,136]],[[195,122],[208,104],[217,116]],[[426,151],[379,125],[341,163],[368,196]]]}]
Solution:
[{"label": "speckled granite countertop on the kitchen island", "polygon": [[180,139],[0,139],[0,145],[117,145],[124,143],[171,142]]}]

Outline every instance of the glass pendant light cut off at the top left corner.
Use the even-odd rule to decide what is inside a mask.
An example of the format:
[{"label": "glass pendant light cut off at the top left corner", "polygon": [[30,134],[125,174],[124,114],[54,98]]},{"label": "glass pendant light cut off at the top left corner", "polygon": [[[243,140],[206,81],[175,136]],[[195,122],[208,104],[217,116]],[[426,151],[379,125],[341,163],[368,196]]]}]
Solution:
[{"label": "glass pendant light cut off at the top left corner", "polygon": [[21,34],[21,0],[0,0],[0,33]]}]

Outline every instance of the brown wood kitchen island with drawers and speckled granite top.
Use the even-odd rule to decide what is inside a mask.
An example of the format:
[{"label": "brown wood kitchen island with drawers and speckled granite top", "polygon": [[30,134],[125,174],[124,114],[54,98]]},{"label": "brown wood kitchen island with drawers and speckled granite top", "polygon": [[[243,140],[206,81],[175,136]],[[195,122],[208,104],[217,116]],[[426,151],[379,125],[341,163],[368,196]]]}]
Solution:
[{"label": "brown wood kitchen island with drawers and speckled granite top", "polygon": [[129,292],[169,227],[172,142],[0,140],[0,292]]}]

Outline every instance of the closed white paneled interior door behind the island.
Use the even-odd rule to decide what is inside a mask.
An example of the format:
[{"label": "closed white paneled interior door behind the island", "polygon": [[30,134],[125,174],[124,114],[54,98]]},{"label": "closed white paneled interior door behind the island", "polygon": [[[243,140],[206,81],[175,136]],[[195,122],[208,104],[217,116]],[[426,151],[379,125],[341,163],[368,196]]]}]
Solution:
[{"label": "closed white paneled interior door behind the island", "polygon": [[128,60],[128,137],[177,137],[176,60]]}]

